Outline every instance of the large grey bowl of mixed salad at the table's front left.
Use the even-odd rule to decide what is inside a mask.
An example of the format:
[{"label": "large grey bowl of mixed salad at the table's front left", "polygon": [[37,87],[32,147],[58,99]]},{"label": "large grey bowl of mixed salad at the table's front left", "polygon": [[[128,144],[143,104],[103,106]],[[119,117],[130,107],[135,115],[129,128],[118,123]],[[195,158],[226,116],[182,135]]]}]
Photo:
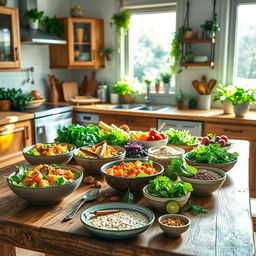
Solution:
[{"label": "large grey bowl of mixed salad at the table's front left", "polygon": [[33,204],[50,205],[62,201],[75,191],[83,172],[71,165],[17,166],[7,178],[10,189]]}]

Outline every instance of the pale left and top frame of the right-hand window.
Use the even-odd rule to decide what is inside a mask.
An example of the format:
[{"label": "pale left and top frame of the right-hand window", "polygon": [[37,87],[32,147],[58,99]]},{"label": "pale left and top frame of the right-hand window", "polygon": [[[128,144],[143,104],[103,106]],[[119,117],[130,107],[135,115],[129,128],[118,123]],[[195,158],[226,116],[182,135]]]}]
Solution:
[{"label": "pale left and top frame of the right-hand window", "polygon": [[233,84],[234,80],[234,70],[235,70],[235,49],[236,49],[236,31],[237,31],[237,7],[239,5],[246,4],[256,4],[256,0],[232,0],[230,8],[230,32],[229,32],[229,47],[228,47],[228,56],[229,62],[227,67],[227,84]]}]

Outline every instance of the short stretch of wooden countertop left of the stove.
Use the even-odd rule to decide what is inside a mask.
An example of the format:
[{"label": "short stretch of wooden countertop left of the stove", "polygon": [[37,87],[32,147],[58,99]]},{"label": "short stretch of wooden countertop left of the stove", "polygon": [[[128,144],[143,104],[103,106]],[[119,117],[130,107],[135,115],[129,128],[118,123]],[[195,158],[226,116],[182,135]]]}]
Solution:
[{"label": "short stretch of wooden countertop left of the stove", "polygon": [[34,114],[32,113],[0,111],[0,125],[16,123],[19,121],[30,120],[33,118],[34,118]]}]

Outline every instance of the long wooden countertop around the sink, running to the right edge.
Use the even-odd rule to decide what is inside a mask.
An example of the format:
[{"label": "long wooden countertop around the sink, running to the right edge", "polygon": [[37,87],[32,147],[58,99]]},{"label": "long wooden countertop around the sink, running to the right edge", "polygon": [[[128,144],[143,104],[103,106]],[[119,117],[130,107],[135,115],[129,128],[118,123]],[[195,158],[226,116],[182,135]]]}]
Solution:
[{"label": "long wooden countertop around the sink, running to the right edge", "polygon": [[167,118],[179,120],[194,120],[194,121],[208,121],[217,123],[231,123],[231,124],[256,124],[256,111],[250,111],[244,118],[238,118],[234,115],[223,115],[222,109],[211,110],[178,110],[176,107],[164,112],[150,112],[139,110],[124,110],[124,109],[108,109],[110,104],[74,106],[77,112],[98,113],[98,114],[113,114],[113,115],[127,115],[127,116],[143,116],[152,118]]}]

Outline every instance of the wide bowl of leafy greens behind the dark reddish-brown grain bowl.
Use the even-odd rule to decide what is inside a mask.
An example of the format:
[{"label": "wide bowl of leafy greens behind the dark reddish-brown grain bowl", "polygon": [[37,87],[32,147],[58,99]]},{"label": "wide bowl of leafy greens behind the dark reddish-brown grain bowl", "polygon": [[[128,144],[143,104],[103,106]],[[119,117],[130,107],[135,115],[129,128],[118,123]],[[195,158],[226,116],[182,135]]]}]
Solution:
[{"label": "wide bowl of leafy greens behind the dark reddish-brown grain bowl", "polygon": [[189,165],[214,167],[228,172],[235,166],[238,153],[229,153],[227,149],[222,149],[218,144],[200,145],[188,152],[185,159]]}]

